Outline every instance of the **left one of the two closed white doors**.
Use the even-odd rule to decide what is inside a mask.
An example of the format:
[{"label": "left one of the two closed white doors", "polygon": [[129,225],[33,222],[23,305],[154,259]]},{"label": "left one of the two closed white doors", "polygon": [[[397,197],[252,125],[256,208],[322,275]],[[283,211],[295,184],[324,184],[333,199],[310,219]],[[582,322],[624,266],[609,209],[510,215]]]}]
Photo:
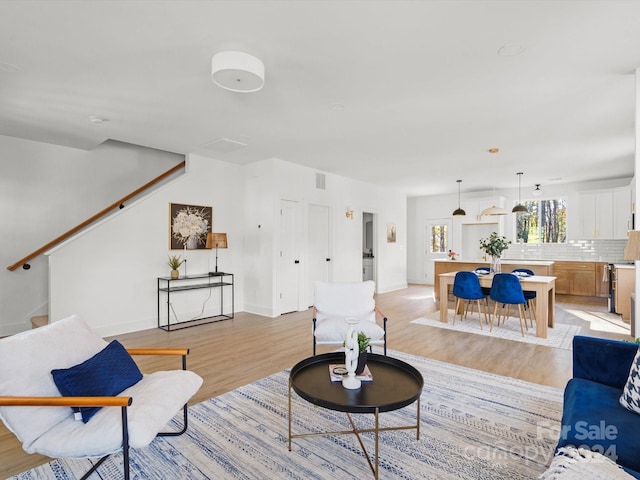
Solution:
[{"label": "left one of the two closed white doors", "polygon": [[300,304],[300,206],[280,201],[280,265],[278,268],[278,311],[297,312]]}]

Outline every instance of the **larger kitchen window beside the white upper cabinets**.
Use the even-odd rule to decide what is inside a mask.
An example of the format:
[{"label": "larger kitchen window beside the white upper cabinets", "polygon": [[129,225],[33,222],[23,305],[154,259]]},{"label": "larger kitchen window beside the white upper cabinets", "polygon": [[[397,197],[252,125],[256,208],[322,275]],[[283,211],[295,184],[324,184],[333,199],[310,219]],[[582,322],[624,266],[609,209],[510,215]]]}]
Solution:
[{"label": "larger kitchen window beside the white upper cabinets", "polygon": [[529,214],[516,215],[519,243],[565,243],[567,241],[567,199],[524,202]]}]

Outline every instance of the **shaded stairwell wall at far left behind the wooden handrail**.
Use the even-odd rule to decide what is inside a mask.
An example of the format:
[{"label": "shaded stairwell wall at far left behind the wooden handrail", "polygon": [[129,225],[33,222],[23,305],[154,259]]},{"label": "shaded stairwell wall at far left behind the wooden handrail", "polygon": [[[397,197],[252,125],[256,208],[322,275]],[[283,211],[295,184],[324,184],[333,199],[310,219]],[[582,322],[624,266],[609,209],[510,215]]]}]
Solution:
[{"label": "shaded stairwell wall at far left behind the wooden handrail", "polygon": [[92,151],[0,135],[0,336],[47,313],[46,257],[6,269],[184,156],[119,142]]}]

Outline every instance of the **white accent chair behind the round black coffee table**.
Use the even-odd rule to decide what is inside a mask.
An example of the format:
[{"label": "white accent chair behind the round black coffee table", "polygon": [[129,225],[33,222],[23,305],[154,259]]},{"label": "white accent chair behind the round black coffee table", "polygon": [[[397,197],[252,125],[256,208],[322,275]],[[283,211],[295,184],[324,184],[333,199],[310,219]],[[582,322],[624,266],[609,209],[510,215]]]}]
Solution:
[{"label": "white accent chair behind the round black coffee table", "polygon": [[[316,345],[343,346],[349,326],[346,318],[358,318],[356,331],[364,332],[372,345],[383,345],[387,354],[387,317],[376,307],[375,283],[314,282],[313,354]],[[382,327],[376,322],[382,318]]]}]

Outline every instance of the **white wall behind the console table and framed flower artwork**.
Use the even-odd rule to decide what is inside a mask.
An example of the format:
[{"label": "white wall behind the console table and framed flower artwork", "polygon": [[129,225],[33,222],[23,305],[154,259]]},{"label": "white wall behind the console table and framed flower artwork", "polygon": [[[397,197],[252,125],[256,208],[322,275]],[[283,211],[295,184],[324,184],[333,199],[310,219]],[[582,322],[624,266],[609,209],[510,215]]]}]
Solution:
[{"label": "white wall behind the console table and framed flower artwork", "polygon": [[[185,255],[169,250],[170,203],[213,207],[213,231],[228,240],[219,269],[237,274],[236,310],[243,309],[243,169],[196,155],[187,162],[184,176],[49,252],[50,321],[75,313],[103,336],[156,327],[156,278],[169,275],[169,254]],[[214,250],[187,250],[186,257],[188,274],[214,269]],[[208,294],[175,294],[176,302],[189,299],[179,318],[197,315]]]}]

